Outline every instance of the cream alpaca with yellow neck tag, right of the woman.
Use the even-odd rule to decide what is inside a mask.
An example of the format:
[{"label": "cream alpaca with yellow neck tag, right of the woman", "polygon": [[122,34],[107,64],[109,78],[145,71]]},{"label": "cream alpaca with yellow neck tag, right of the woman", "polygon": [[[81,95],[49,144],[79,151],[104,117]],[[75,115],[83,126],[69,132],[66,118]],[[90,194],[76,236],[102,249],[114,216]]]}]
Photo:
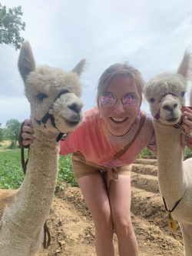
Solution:
[{"label": "cream alpaca with yellow neck tag, right of the woman", "polygon": [[179,221],[186,256],[192,255],[192,158],[183,161],[181,136],[187,139],[188,135],[180,123],[190,71],[191,55],[186,51],[177,73],[157,75],[144,88],[154,117],[159,188],[169,211],[170,226],[173,228],[174,219]]}]

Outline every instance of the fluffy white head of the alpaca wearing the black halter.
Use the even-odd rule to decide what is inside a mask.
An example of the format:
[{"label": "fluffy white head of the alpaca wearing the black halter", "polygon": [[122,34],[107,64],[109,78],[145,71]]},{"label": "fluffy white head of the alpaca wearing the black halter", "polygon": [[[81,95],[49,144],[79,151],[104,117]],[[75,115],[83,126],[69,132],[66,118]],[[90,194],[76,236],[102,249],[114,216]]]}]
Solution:
[{"label": "fluffy white head of the alpaca wearing the black halter", "polygon": [[68,132],[82,120],[79,76],[85,60],[72,71],[41,66],[36,68],[31,46],[25,42],[18,58],[18,69],[25,83],[25,95],[31,104],[34,128]]}]

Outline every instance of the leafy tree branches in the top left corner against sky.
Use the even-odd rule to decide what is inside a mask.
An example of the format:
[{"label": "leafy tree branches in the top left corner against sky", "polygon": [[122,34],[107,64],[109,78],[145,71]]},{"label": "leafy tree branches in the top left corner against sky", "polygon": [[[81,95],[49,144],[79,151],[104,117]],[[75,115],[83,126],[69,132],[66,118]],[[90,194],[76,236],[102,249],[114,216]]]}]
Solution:
[{"label": "leafy tree branches in the top left corner against sky", "polygon": [[20,35],[21,30],[25,30],[22,15],[22,6],[6,8],[0,3],[0,44],[13,45],[16,50],[21,48],[25,40]]}]

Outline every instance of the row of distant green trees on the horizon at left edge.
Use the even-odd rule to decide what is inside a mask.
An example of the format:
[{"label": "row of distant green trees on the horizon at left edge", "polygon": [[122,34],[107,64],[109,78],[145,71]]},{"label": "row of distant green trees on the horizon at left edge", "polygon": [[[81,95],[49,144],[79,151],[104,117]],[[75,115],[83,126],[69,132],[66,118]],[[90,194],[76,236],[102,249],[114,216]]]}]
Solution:
[{"label": "row of distant green trees on the horizon at left edge", "polygon": [[10,146],[15,147],[18,141],[18,135],[21,128],[21,123],[17,119],[10,119],[6,122],[5,128],[1,128],[0,123],[0,143],[1,141],[10,141]]}]

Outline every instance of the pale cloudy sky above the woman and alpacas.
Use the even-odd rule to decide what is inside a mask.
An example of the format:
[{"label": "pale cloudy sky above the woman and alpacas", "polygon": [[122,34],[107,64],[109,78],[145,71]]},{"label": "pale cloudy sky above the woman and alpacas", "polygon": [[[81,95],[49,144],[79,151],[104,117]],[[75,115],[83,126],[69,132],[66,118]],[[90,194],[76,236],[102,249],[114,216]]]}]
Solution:
[{"label": "pale cloudy sky above the woman and alpacas", "polygon": [[[177,69],[185,49],[192,45],[190,0],[1,0],[22,6],[28,40],[37,65],[70,71],[86,58],[81,75],[84,111],[95,105],[98,79],[105,68],[128,62],[147,81],[162,71]],[[18,54],[0,45],[0,123],[30,117]],[[190,89],[190,88],[189,88]],[[141,108],[149,112],[147,102]]]}]

